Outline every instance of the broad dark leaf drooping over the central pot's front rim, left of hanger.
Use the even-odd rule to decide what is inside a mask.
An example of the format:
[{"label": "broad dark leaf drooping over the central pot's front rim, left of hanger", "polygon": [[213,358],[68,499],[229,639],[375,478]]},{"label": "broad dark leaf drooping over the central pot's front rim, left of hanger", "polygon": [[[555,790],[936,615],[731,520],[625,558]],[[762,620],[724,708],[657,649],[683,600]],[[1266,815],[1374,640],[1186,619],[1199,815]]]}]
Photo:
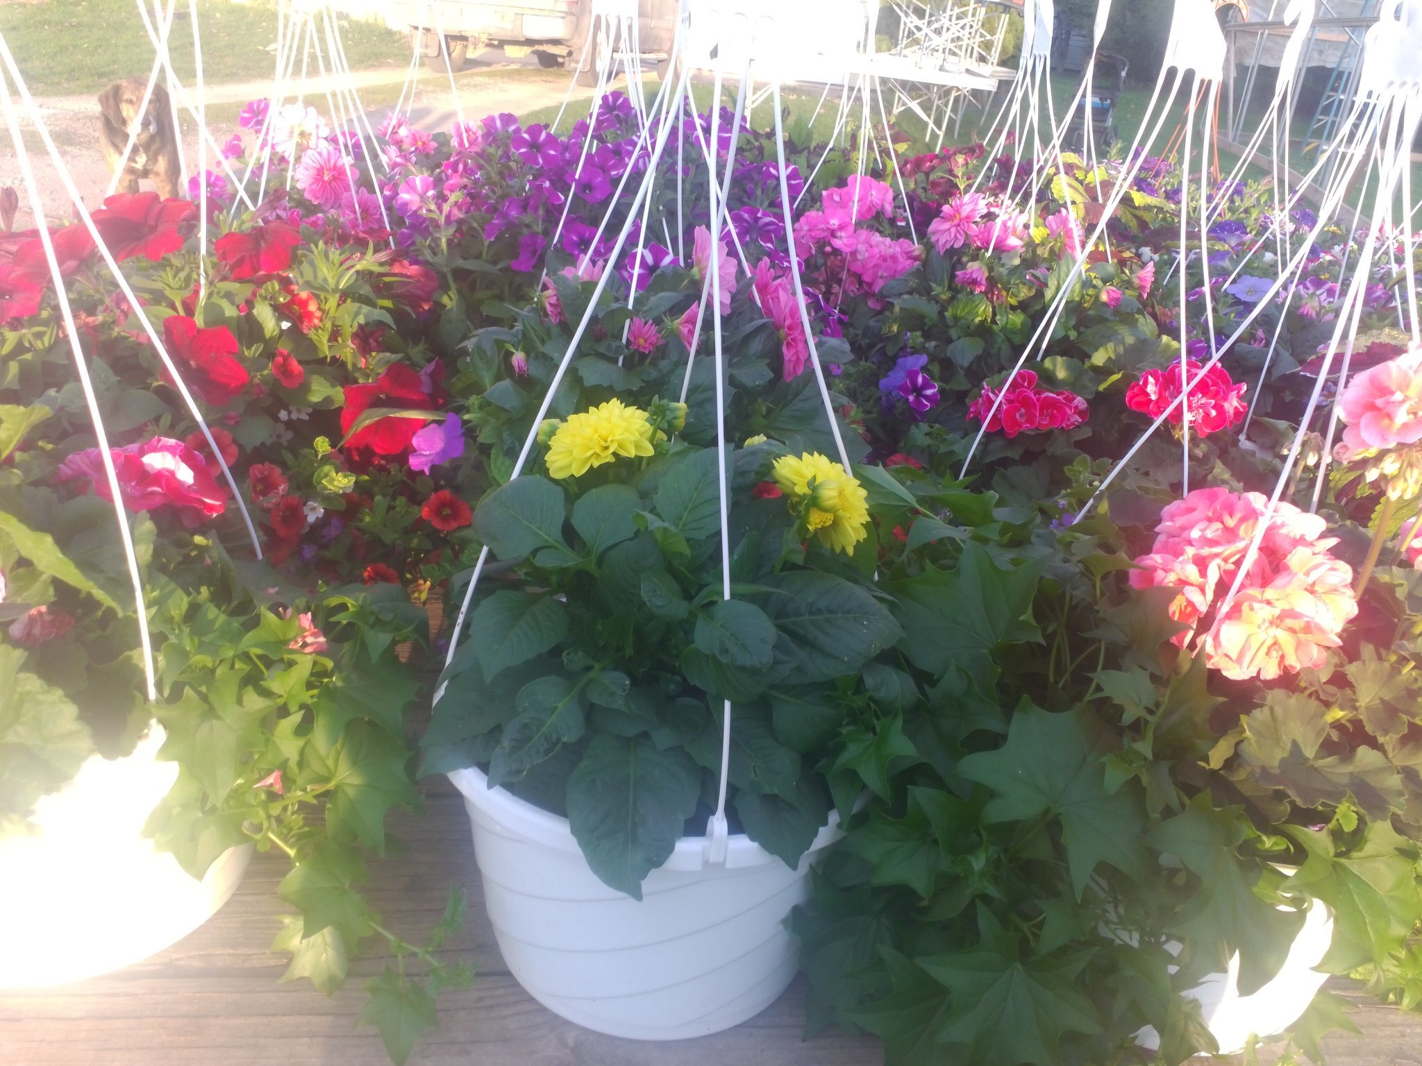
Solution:
[{"label": "broad dark leaf drooping over the central pot's front rim, left of hanger", "polygon": [[602,733],[567,780],[567,817],[593,873],[640,900],[643,878],[667,861],[700,795],[701,773],[684,750]]}]

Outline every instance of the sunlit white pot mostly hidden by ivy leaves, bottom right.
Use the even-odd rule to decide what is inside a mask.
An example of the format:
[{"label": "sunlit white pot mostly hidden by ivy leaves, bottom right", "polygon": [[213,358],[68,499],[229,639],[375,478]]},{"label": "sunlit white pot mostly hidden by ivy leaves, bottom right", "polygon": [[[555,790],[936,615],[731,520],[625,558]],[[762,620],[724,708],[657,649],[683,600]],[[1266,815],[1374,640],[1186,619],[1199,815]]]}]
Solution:
[{"label": "sunlit white pot mostly hidden by ivy leaves, bottom right", "polygon": [[[1314,969],[1328,954],[1332,942],[1332,911],[1320,901],[1308,908],[1304,925],[1288,949],[1283,968],[1253,995],[1239,991],[1240,957],[1230,957],[1229,971],[1210,974],[1199,985],[1185,992],[1200,1003],[1200,1012],[1220,1055],[1237,1055],[1251,1035],[1274,1036],[1300,1019],[1322,988],[1327,974]],[[1160,1036],[1152,1026],[1136,1033],[1136,1042],[1156,1050]],[[1199,1056],[1197,1056],[1199,1057]]]}]

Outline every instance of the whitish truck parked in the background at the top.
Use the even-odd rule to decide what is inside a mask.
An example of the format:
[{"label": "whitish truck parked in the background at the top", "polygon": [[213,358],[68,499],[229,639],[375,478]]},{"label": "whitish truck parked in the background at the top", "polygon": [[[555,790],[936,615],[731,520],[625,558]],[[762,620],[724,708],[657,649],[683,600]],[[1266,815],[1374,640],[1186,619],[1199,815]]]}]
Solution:
[{"label": "whitish truck parked in the background at the top", "polygon": [[[677,0],[637,0],[638,47],[643,55],[658,58],[658,72],[677,28]],[[574,78],[580,85],[597,81],[600,48],[609,47],[606,34],[597,34],[593,47],[584,48],[593,28],[593,0],[397,0],[387,10],[391,24],[410,27],[431,67],[444,70],[445,55],[452,70],[461,70],[471,53],[503,48],[515,58],[533,53],[543,67],[577,64]],[[441,43],[441,34],[444,41]]]}]

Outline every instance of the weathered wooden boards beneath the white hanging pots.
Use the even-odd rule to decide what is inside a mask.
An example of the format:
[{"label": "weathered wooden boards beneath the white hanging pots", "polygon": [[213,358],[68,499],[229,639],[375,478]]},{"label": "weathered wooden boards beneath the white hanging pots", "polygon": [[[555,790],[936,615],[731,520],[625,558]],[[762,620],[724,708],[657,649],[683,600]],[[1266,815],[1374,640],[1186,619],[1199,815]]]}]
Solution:
[{"label": "weathered wooden boards beneath the white hanging pots", "polygon": [[[468,992],[442,996],[439,1029],[421,1042],[411,1066],[883,1063],[872,1039],[802,1040],[798,982],[758,1018],[697,1040],[619,1040],[565,1022],[533,1002],[499,958],[458,796],[434,787],[428,816],[402,817],[395,827],[408,851],[373,864],[373,903],[394,930],[418,935],[459,880],[469,917],[445,951],[479,969]],[[0,994],[0,1066],[385,1066],[375,1030],[356,1029],[363,976],[385,959],[357,962],[331,998],[306,981],[277,981],[284,964],[267,948],[284,910],[276,898],[284,866],[280,856],[253,858],[216,917],[146,962],[65,988]],[[1334,1038],[1331,1066],[1422,1066],[1422,1018],[1376,1005],[1352,1016],[1364,1035]]]}]

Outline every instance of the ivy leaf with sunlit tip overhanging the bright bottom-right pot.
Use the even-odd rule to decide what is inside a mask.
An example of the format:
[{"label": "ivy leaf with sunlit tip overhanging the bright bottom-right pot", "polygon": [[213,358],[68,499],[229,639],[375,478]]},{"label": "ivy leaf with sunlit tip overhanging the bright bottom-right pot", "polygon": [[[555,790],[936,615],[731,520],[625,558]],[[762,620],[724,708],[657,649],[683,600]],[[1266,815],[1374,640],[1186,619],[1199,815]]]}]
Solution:
[{"label": "ivy leaf with sunlit tip overhanging the bright bottom-right pot", "polygon": [[1258,864],[1247,866],[1236,853],[1246,833],[1240,807],[1214,807],[1203,792],[1150,830],[1148,841],[1200,878],[1200,890],[1169,931],[1239,948],[1240,992],[1251,995],[1278,972],[1303,914],[1280,911],[1254,894]]}]

